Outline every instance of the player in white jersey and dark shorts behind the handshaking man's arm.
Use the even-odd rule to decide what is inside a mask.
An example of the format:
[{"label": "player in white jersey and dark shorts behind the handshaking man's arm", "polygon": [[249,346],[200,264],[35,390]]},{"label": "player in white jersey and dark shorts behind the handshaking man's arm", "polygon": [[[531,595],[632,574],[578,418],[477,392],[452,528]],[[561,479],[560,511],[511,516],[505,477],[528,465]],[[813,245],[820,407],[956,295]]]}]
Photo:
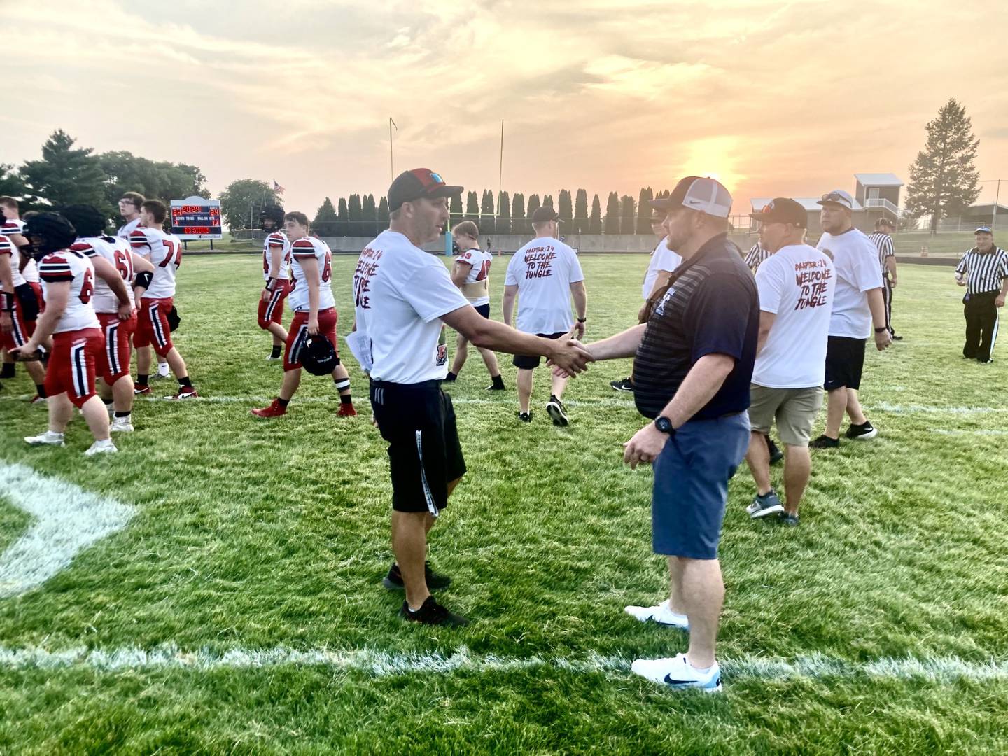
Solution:
[{"label": "player in white jersey and dark shorts behind the handshaking man's arm", "polygon": [[[490,319],[490,266],[493,264],[494,256],[489,249],[480,249],[480,229],[473,221],[463,221],[452,229],[452,239],[459,248],[459,254],[455,258],[452,266],[452,282],[462,289],[463,295],[469,300],[476,311],[486,319]],[[489,247],[489,244],[487,245]],[[487,391],[503,391],[504,380],[501,378],[501,369],[497,364],[497,355],[489,349],[481,349],[480,356],[483,364],[487,366],[490,373],[490,385]],[[466,364],[469,357],[469,341],[462,334],[456,342],[455,360],[452,362],[452,369],[449,371],[446,381],[451,383],[459,377],[462,366]]]}]

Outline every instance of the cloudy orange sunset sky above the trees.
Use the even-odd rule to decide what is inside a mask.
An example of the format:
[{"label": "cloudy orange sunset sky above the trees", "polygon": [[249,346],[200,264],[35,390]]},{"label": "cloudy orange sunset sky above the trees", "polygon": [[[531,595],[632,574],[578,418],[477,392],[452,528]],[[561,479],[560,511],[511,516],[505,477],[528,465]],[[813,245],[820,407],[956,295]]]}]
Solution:
[{"label": "cloudy orange sunset sky above the trees", "polygon": [[[83,9],[87,8],[87,12]],[[170,12],[167,9],[170,8]],[[172,3],[0,0],[0,162],[62,128],[97,151],[199,165],[215,194],[275,178],[288,210],[396,172],[589,197],[716,174],[735,197],[894,172],[950,98],[1008,178],[1003,3],[707,0]],[[982,199],[993,200],[985,183]],[[1008,201],[1008,182],[1001,201]]]}]

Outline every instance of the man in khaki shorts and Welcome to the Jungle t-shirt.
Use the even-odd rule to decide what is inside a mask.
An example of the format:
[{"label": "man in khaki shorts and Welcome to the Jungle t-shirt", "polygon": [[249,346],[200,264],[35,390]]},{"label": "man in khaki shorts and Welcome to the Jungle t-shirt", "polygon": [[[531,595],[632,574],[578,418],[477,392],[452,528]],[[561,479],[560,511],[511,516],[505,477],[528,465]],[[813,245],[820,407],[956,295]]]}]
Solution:
[{"label": "man in khaki shorts and Welcome to the Jungle t-shirt", "polygon": [[[798,503],[811,474],[808,439],[823,406],[823,381],[836,274],[823,252],[802,242],[804,209],[778,197],[752,218],[770,256],[756,271],[759,342],[750,388],[752,435],[746,461],[756,481],[750,517],[778,515],[798,524]],[[770,482],[765,433],[777,421],[784,443],[784,504]]]}]

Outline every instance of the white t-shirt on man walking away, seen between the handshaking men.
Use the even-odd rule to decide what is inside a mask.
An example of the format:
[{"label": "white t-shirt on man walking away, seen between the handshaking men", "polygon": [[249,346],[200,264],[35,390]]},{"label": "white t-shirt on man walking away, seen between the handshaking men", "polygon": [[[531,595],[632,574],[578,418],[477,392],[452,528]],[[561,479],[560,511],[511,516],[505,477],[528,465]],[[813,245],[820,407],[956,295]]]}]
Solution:
[{"label": "white t-shirt on man walking away, seen between the handshaking men", "polygon": [[518,330],[526,334],[558,334],[574,325],[571,284],[585,280],[578,255],[563,242],[533,239],[514,253],[505,286],[518,287]]}]

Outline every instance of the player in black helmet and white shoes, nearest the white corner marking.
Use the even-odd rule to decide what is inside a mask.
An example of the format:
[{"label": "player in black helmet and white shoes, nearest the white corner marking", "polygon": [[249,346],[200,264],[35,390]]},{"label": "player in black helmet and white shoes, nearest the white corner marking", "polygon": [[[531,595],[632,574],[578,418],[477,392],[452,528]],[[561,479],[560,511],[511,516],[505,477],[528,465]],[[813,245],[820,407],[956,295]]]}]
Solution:
[{"label": "player in black helmet and white shoes, nearest the white corner marking", "polygon": [[26,344],[13,350],[17,359],[36,359],[38,346],[52,336],[52,351],[45,371],[49,426],[39,435],[29,435],[31,446],[64,446],[64,430],[81,410],[95,436],[85,452],[91,457],[116,452],[109,438],[109,414],[95,393],[95,368],[105,339],[92,304],[95,276],[103,278],[120,305],[120,317],[130,310],[126,284],[115,267],[103,257],[86,257],[70,249],[77,231],[56,213],[39,213],[24,229],[32,256],[39,261],[45,311]]}]

